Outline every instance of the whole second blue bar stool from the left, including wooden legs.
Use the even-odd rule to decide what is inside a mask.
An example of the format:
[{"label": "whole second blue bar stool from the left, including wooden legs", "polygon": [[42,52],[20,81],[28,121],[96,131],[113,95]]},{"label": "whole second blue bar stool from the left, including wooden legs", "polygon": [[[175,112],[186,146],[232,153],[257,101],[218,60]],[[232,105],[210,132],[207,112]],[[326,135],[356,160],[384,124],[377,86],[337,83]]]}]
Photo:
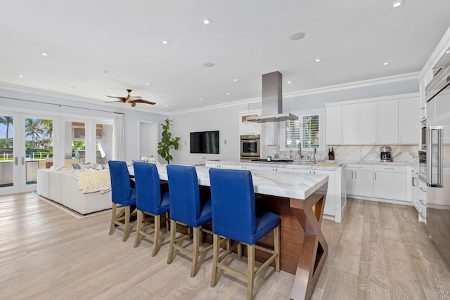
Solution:
[{"label": "whole second blue bar stool from the left, including wooden legs", "polygon": [[[134,162],[134,179],[136,181],[136,208],[137,226],[134,247],[138,247],[142,237],[153,240],[152,256],[158,253],[158,244],[161,238],[169,235],[169,192],[161,191],[160,176],[155,164]],[[160,234],[161,215],[165,214],[166,233]],[[154,222],[146,226],[146,215],[153,216]],[[153,234],[147,230],[154,228]]]}]

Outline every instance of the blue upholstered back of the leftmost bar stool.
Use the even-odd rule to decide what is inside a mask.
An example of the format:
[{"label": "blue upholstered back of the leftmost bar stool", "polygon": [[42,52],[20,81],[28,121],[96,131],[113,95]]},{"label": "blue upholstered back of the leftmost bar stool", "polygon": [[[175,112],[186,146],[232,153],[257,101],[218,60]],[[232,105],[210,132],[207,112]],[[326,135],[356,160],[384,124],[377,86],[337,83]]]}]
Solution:
[{"label": "blue upholstered back of the leftmost bar stool", "polygon": [[111,176],[111,198],[113,202],[129,206],[136,204],[131,201],[131,185],[129,183],[129,171],[126,162],[117,160],[110,160],[108,162],[110,166]]}]

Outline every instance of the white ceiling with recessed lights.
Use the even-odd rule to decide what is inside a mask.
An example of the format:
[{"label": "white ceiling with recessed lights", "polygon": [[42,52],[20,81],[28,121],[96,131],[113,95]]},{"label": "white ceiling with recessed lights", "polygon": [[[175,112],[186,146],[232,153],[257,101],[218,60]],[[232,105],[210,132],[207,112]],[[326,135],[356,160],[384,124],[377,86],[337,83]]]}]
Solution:
[{"label": "white ceiling with recessed lights", "polygon": [[175,112],[260,98],[274,71],[283,93],[419,72],[450,26],[450,1],[392,1],[1,0],[0,86],[92,103],[132,89],[157,103],[134,109]]}]

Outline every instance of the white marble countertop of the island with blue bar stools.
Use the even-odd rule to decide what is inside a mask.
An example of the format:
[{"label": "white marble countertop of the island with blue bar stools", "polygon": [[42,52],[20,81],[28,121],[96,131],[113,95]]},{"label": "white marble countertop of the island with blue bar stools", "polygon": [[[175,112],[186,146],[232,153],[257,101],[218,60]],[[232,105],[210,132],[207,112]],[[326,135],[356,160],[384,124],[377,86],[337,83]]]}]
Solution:
[{"label": "white marble countertop of the island with blue bar stools", "polygon": [[[166,164],[158,164],[160,179],[167,180]],[[200,185],[210,186],[209,167],[195,167]],[[134,174],[133,167],[129,167]],[[255,193],[304,200],[328,182],[326,175],[276,173],[271,171],[252,171]]]}]

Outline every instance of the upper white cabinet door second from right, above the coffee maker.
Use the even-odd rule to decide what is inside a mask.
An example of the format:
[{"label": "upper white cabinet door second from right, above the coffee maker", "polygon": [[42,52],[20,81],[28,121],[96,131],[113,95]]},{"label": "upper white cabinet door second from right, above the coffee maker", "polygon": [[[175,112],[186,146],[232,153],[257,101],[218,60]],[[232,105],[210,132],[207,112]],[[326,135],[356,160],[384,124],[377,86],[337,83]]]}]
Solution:
[{"label": "upper white cabinet door second from right, above the coffee maker", "polygon": [[397,99],[378,101],[378,144],[399,143],[398,132],[399,101]]}]

